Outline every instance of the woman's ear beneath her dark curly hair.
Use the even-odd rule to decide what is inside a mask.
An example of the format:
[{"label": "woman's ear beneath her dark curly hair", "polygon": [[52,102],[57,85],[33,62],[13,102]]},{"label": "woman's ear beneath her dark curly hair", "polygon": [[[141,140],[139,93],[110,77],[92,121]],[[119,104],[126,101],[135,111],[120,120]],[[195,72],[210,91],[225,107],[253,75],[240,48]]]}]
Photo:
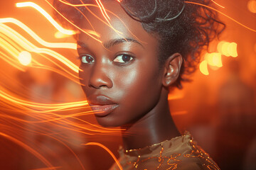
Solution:
[{"label": "woman's ear beneath her dark curly hair", "polygon": [[171,84],[178,79],[182,62],[183,60],[180,53],[174,53],[166,60],[164,63],[164,77],[162,80],[164,86],[171,86]]}]

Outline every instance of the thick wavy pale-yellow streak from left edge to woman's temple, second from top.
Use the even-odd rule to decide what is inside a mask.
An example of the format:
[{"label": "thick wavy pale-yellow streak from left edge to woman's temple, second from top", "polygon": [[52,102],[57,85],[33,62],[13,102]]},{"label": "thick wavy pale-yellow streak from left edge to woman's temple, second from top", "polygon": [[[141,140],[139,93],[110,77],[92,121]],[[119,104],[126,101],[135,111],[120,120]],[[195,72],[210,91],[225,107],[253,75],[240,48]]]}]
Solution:
[{"label": "thick wavy pale-yellow streak from left edge to woman's temple, second from top", "polygon": [[[68,48],[77,50],[77,45],[75,43],[67,43],[67,42],[61,42],[61,43],[53,43],[53,42],[46,42],[42,38],[40,38],[36,33],[33,32],[28,26],[21,23],[21,21],[16,20],[15,18],[0,18],[0,23],[14,23],[23,30],[25,30],[29,35],[31,35],[32,38],[34,38],[37,42],[39,42],[41,45],[44,45],[46,47],[53,47],[53,48]],[[61,32],[60,32],[61,33]],[[63,34],[65,35],[65,34]],[[65,35],[66,36],[66,35]]]}]

